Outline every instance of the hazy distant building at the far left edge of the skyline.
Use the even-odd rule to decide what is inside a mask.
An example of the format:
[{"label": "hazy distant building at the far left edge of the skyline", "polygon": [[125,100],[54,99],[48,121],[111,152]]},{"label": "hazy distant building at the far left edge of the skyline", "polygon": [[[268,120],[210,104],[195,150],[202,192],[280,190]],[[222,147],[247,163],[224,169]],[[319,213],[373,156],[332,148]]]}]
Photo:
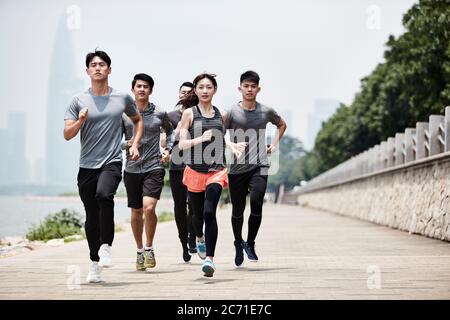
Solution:
[{"label": "hazy distant building at the far left edge of the skyline", "polygon": [[[8,114],[6,129],[5,155],[3,159],[6,168],[5,184],[24,185],[27,173],[25,159],[26,150],[26,118],[24,112],[12,112]],[[3,167],[3,166],[2,166]]]}]

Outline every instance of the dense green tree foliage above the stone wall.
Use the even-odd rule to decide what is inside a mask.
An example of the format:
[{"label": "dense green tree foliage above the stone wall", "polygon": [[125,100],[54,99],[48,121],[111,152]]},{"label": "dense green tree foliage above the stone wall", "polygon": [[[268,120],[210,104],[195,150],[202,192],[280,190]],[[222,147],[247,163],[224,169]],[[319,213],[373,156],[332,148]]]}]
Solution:
[{"label": "dense green tree foliage above the stone wall", "polygon": [[352,104],[341,105],[323,123],[304,160],[309,175],[415,127],[431,114],[443,114],[450,104],[450,1],[419,1],[404,15],[403,26],[401,36],[389,37],[385,61],[361,80]]}]

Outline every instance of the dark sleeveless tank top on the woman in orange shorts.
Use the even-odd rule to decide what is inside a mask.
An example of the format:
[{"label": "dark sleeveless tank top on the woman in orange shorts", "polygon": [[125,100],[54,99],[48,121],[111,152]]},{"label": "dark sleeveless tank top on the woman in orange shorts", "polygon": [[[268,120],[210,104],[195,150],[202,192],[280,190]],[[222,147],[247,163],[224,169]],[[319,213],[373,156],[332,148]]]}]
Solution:
[{"label": "dark sleeveless tank top on the woman in orange shorts", "polygon": [[187,165],[198,172],[208,173],[225,168],[225,139],[222,115],[213,106],[214,117],[204,117],[198,106],[192,107],[193,121],[189,128],[190,139],[201,137],[207,130],[213,130],[210,141],[202,142],[188,149],[191,153]]}]

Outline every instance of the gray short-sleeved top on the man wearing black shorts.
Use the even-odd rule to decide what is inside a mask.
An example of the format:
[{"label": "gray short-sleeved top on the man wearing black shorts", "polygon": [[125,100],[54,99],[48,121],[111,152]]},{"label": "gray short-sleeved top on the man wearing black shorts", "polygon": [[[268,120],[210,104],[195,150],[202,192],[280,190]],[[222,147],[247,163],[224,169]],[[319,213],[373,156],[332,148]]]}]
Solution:
[{"label": "gray short-sleeved top on the man wearing black shorts", "polygon": [[[141,146],[139,147],[140,158],[136,161],[131,160],[127,148],[127,162],[125,171],[129,173],[145,173],[155,169],[164,169],[161,164],[160,152],[160,133],[161,129],[166,133],[167,148],[171,149],[172,141],[172,125],[170,124],[167,112],[161,110],[159,107],[150,103],[150,105],[141,112],[144,120],[144,134],[141,139]],[[125,140],[130,140],[133,137],[133,123],[127,118],[123,117]]]}]

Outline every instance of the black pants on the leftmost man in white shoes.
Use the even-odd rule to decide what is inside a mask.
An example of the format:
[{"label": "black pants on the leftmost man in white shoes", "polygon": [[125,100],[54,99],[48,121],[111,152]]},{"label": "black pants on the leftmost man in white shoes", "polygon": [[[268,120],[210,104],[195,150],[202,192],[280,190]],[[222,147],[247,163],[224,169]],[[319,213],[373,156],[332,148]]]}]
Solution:
[{"label": "black pants on the leftmost man in white shoes", "polygon": [[80,168],[78,192],[86,210],[85,231],[91,261],[99,261],[98,250],[114,240],[114,194],[122,179],[122,163],[100,169]]}]

